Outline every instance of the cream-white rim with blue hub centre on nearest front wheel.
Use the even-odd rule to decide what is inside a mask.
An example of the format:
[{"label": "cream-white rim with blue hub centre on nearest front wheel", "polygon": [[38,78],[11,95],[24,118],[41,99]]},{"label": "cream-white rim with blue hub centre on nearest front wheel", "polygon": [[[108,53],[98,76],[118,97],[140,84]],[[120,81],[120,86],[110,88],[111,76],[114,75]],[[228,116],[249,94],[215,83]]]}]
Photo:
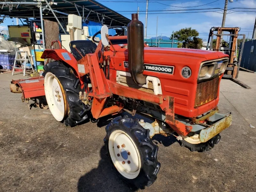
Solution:
[{"label": "cream-white rim with blue hub centre on nearest front wheel", "polygon": [[110,134],[108,149],[117,171],[127,179],[134,179],[140,173],[140,153],[132,138],[124,131]]}]

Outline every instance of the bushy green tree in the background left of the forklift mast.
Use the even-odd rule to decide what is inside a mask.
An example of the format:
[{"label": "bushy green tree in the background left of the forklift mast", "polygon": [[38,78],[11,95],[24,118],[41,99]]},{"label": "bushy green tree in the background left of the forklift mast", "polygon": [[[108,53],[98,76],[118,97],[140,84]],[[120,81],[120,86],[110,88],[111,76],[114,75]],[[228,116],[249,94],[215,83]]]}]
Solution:
[{"label": "bushy green tree in the background left of the forklift mast", "polygon": [[[192,29],[191,27],[182,28],[179,31],[174,32],[174,39],[182,42],[182,47],[184,48],[201,49],[203,40],[198,38],[198,35],[199,33],[196,29]],[[180,47],[180,44],[178,44],[178,47]]]}]

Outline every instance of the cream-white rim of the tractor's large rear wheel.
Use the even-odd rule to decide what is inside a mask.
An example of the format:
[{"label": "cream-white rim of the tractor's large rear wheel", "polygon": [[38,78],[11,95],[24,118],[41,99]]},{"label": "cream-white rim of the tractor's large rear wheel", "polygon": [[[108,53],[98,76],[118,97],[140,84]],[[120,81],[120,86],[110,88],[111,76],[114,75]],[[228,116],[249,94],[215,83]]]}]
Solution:
[{"label": "cream-white rim of the tractor's large rear wheel", "polygon": [[66,95],[59,79],[50,72],[44,77],[44,92],[52,115],[62,121],[66,116]]}]

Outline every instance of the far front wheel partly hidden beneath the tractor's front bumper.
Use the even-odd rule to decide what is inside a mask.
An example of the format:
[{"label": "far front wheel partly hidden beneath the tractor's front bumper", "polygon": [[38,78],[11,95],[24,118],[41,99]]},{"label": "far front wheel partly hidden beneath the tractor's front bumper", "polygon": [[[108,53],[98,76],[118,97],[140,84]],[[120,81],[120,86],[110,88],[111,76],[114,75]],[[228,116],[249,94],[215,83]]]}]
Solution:
[{"label": "far front wheel partly hidden beneath the tractor's front bumper", "polygon": [[[209,151],[212,148],[214,148],[215,145],[217,145],[220,141],[220,134],[215,135],[212,139],[202,143],[198,142],[197,140],[191,140],[191,137],[189,138],[190,140],[187,140],[183,138],[183,140],[180,140],[180,145],[182,147],[188,148],[190,151],[197,151],[197,152],[205,152]],[[196,143],[196,144],[195,144]]]}]

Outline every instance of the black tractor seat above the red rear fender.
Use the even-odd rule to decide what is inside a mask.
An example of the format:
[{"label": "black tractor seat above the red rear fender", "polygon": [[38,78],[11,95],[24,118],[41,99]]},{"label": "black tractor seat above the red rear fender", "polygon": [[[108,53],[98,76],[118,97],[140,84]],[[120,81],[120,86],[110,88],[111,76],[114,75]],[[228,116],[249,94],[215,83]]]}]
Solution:
[{"label": "black tractor seat above the red rear fender", "polygon": [[76,45],[76,49],[83,55],[85,56],[88,53],[94,53],[97,45],[93,43],[90,40],[76,40],[76,41],[71,41],[69,43],[71,53],[74,55],[76,60],[82,59],[81,55],[76,51],[75,48],[73,48],[73,45]]}]

